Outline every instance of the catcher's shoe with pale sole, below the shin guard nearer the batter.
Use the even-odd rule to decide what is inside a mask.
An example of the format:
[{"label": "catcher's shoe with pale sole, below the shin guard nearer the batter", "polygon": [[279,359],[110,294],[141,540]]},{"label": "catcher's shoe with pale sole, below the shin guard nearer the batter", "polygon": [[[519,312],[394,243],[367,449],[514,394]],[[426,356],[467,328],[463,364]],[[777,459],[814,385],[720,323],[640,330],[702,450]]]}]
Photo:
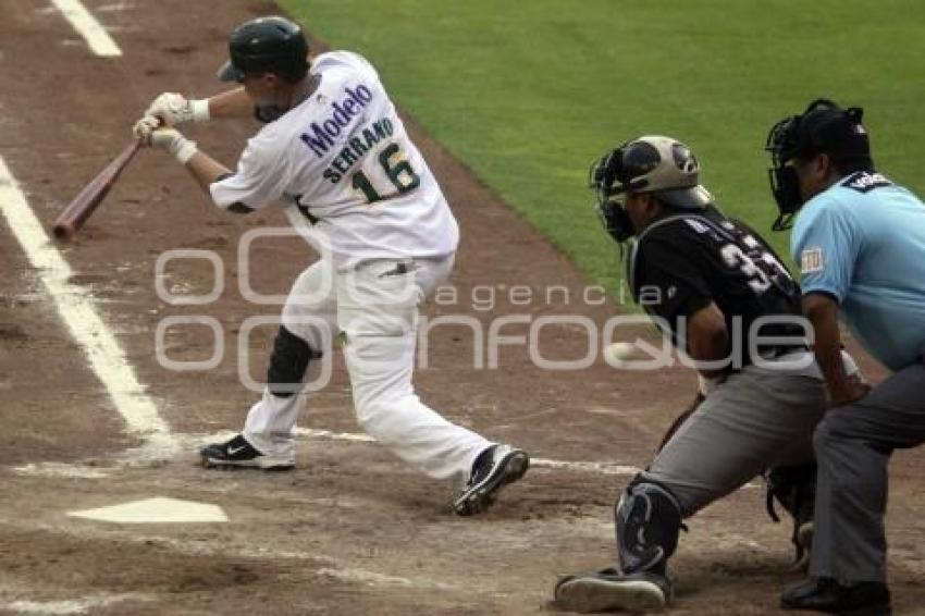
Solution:
[{"label": "catcher's shoe with pale sole, below the shin guard nearer the batter", "polygon": [[654,571],[622,575],[616,568],[563,578],[556,604],[570,612],[648,612],[671,600],[671,581]]}]

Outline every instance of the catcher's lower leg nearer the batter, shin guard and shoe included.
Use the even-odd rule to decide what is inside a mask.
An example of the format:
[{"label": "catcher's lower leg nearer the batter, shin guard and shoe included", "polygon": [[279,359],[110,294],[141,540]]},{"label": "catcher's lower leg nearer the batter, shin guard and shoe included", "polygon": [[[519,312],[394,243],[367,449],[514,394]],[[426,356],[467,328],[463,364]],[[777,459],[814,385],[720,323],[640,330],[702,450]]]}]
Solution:
[{"label": "catcher's lower leg nearer the batter, shin guard and shoe included", "polygon": [[556,584],[559,606],[576,612],[658,609],[671,599],[668,558],[678,546],[681,509],[674,494],[638,475],[614,512],[620,566],[569,576]]}]

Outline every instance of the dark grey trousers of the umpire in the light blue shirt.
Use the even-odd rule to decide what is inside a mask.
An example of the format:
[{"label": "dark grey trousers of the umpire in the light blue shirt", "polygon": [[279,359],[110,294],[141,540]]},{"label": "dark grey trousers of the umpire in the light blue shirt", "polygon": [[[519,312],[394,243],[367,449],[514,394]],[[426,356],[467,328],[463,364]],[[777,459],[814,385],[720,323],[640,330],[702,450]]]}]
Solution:
[{"label": "dark grey trousers of the umpire in the light blue shirt", "polygon": [[925,442],[925,365],[896,372],[816,428],[818,464],[810,575],[886,581],[887,467],[893,449]]}]

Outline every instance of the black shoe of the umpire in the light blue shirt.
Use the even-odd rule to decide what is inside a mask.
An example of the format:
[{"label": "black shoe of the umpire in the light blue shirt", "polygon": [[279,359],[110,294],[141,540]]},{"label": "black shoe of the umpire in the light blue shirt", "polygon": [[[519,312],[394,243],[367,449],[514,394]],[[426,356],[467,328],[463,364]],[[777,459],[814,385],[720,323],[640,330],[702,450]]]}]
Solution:
[{"label": "black shoe of the umpire in the light blue shirt", "polygon": [[831,578],[810,578],[785,590],[782,609],[809,609],[842,616],[888,616],[890,591],[883,582],[843,584]]}]

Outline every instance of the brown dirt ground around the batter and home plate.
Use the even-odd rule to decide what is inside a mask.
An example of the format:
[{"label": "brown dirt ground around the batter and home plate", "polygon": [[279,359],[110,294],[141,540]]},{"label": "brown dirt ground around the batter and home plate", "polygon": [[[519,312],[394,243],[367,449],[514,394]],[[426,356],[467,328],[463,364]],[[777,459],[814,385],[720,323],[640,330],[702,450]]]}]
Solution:
[{"label": "brown dirt ground around the batter and home plate", "polygon": [[[44,2],[0,0],[0,157],[46,226],[125,145],[152,96],[217,91],[212,76],[230,28],[274,12],[271,3],[231,0],[86,5],[110,29],[121,58],[94,57]],[[544,316],[575,315],[599,327],[613,316],[617,307],[597,303],[594,289],[593,303],[582,300],[589,283],[567,259],[409,126],[464,237],[456,299],[432,305],[430,318],[462,315],[488,330],[498,318],[526,317],[503,330],[517,336]],[[189,135],[231,163],[256,127],[213,123]],[[640,378],[600,356],[580,371],[542,370],[522,345],[501,347],[498,368],[480,369],[472,358],[486,352],[469,329],[435,328],[430,367],[417,373],[420,395],[454,421],[541,460],[477,519],[449,515],[448,486],[374,443],[343,436],[358,430],[340,357],[330,386],[308,401],[301,426],[310,431],[299,442],[295,471],[201,469],[196,448],[237,430],[256,399],[239,384],[237,334],[247,318],[279,312],[239,292],[239,239],[261,226],[286,226],[285,218],[222,213],[172,159],[143,152],[78,241],[62,248],[72,288],[90,292],[169,427],[151,446],[145,434],[126,431],[40,272],[0,223],[0,613],[555,612],[547,602],[558,575],[615,556],[617,489],[629,467],[646,464],[688,402],[692,374],[676,368]],[[156,262],[169,249],[219,255],[225,291],[215,303],[174,306],[158,297]],[[258,241],[249,282],[260,293],[284,294],[311,259],[299,239]],[[202,260],[174,261],[165,274],[175,293],[207,293],[214,282]],[[547,301],[550,285],[562,289]],[[531,289],[530,300],[513,291],[518,286]],[[161,367],[158,323],[203,313],[217,319],[230,353],[208,372]],[[255,378],[271,333],[258,329],[245,344]],[[577,324],[543,328],[540,340],[550,360],[588,353]],[[208,358],[213,347],[210,331],[195,325],[171,329],[165,342],[174,360]],[[921,452],[893,463],[888,525],[897,614],[925,613],[923,471]],[[217,504],[229,521],[113,525],[66,516],[152,496]],[[676,611],[775,613],[777,593],[799,576],[787,570],[789,528],[767,519],[757,483],[689,526],[674,560]]]}]

